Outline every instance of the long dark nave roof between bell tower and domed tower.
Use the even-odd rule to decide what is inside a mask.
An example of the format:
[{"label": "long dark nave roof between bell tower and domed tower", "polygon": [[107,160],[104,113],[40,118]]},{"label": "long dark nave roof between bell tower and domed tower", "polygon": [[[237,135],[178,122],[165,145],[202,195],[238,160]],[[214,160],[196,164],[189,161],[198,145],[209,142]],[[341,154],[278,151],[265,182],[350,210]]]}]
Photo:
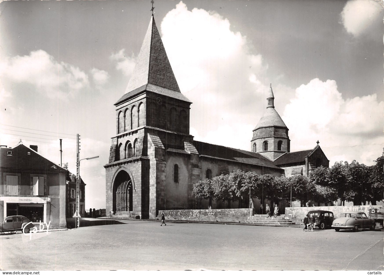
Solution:
[{"label": "long dark nave roof between bell tower and domed tower", "polygon": [[276,166],[273,161],[270,161],[268,158],[262,156],[259,153],[220,146],[216,144],[210,144],[201,141],[194,141],[193,144],[199,154],[202,156],[209,156],[228,161],[238,161],[251,165],[281,169],[280,167]]}]

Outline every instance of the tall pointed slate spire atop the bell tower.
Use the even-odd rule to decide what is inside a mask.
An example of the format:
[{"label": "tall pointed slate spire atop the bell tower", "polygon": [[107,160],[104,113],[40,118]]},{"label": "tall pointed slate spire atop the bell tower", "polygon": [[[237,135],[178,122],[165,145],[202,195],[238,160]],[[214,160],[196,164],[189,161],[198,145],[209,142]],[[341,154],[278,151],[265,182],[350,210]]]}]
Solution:
[{"label": "tall pointed slate spire atop the bell tower", "polygon": [[170,66],[153,16],[137,56],[136,66],[129,80],[126,93],[146,84],[180,93],[179,85]]}]

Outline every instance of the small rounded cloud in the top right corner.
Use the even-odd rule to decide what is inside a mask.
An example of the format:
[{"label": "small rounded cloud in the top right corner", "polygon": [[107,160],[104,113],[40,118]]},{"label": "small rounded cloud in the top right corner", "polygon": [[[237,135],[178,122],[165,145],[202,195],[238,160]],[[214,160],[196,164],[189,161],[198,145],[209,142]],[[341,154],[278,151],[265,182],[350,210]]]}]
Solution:
[{"label": "small rounded cloud in the top right corner", "polygon": [[348,33],[358,36],[371,27],[375,21],[381,21],[378,16],[381,10],[382,4],[379,1],[351,0],[345,4],[340,14],[341,22]]}]

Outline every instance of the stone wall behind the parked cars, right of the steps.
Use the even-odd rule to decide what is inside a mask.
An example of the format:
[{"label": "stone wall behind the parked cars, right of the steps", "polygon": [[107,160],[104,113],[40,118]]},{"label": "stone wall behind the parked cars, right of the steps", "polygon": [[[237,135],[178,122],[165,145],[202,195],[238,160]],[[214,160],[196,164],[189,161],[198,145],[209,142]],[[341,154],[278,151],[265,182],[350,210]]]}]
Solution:
[{"label": "stone wall behind the parked cars, right of the steps", "polygon": [[384,205],[351,205],[351,206],[317,206],[317,207],[286,207],[285,217],[292,220],[296,224],[300,224],[308,211],[326,210],[333,212],[335,218],[338,218],[341,213],[348,211],[362,211],[369,214],[369,208],[377,208],[379,212],[384,212]]}]

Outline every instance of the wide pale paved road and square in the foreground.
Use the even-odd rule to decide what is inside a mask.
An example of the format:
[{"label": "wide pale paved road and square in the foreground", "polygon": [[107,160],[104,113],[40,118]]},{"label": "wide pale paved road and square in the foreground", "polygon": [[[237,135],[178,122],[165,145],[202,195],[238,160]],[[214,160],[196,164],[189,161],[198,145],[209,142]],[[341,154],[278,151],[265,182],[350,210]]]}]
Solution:
[{"label": "wide pale paved road and square in the foreground", "polygon": [[383,232],[126,224],[0,236],[3,270],[384,270]]}]

